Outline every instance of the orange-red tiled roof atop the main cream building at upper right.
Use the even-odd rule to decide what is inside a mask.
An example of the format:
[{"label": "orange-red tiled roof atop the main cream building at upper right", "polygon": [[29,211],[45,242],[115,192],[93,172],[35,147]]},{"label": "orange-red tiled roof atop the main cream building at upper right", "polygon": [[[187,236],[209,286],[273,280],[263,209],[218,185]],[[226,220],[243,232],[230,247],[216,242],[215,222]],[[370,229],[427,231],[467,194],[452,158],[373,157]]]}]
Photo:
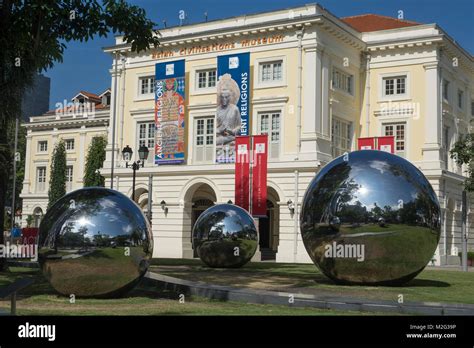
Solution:
[{"label": "orange-red tiled roof atop the main cream building at upper right", "polygon": [[405,28],[421,24],[405,19],[397,19],[371,13],[343,17],[341,20],[360,32]]}]

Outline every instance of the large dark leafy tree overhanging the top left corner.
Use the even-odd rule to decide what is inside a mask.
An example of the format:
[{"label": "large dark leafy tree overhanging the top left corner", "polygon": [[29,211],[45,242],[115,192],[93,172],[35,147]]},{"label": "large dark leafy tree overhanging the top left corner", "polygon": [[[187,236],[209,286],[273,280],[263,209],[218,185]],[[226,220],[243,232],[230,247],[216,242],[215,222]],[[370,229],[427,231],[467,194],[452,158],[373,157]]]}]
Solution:
[{"label": "large dark leafy tree overhanging the top left corner", "polygon": [[[143,9],[123,0],[0,1],[0,227],[11,182],[6,129],[9,120],[20,115],[21,96],[34,75],[61,62],[68,42],[95,35],[121,33],[132,52],[156,47],[154,26]],[[0,271],[3,264],[0,260]]]}]

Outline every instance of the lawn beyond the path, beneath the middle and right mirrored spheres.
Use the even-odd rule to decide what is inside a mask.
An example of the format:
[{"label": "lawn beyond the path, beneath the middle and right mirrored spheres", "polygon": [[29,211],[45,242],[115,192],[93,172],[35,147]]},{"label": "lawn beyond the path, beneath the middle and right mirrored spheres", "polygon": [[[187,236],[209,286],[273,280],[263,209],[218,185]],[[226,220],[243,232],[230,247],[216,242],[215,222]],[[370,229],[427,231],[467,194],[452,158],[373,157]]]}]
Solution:
[{"label": "lawn beyond the path, beneath the middle and right mirrored spheres", "polygon": [[404,286],[336,285],[313,264],[248,263],[240,269],[209,268],[200,260],[154,259],[151,271],[182,279],[316,295],[380,300],[474,304],[474,272],[425,269]]}]

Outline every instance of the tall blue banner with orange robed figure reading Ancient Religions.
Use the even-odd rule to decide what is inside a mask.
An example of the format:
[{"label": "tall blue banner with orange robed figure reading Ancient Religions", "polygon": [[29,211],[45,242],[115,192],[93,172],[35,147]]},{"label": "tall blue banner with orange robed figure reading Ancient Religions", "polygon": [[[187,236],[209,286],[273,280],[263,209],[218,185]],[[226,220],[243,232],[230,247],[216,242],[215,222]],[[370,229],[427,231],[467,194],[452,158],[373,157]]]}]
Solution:
[{"label": "tall blue banner with orange robed figure reading Ancient Religions", "polygon": [[184,162],[184,59],[155,66],[155,164]]}]

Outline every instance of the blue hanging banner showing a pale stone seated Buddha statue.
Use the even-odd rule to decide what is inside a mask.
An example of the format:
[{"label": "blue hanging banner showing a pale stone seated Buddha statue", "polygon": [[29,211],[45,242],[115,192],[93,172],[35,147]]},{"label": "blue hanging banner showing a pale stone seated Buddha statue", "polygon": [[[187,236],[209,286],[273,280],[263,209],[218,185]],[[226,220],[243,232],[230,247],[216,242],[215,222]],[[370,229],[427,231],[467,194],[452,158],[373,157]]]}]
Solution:
[{"label": "blue hanging banner showing a pale stone seated Buddha statue", "polygon": [[216,162],[235,162],[235,137],[248,135],[250,53],[217,57]]}]

